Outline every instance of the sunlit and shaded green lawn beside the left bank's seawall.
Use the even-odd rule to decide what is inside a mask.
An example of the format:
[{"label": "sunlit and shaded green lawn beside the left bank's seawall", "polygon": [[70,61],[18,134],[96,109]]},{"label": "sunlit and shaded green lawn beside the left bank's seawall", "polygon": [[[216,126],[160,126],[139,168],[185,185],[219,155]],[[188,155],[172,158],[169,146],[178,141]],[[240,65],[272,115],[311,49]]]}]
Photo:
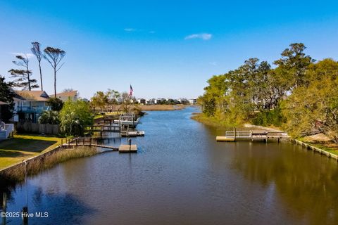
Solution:
[{"label": "sunlit and shaded green lawn beside the left bank's seawall", "polygon": [[58,146],[61,138],[54,136],[15,135],[0,142],[0,169],[44,153]]}]

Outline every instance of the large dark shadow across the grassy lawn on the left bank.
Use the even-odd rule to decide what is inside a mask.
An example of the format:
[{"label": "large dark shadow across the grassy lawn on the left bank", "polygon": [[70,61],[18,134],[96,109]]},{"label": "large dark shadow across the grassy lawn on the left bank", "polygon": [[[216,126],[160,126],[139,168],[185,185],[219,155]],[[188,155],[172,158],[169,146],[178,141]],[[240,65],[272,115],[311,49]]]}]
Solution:
[{"label": "large dark shadow across the grassy lawn on the left bank", "polygon": [[14,138],[0,142],[0,149],[22,150],[33,153],[40,153],[42,150],[54,145],[57,141],[44,141],[33,139]]}]

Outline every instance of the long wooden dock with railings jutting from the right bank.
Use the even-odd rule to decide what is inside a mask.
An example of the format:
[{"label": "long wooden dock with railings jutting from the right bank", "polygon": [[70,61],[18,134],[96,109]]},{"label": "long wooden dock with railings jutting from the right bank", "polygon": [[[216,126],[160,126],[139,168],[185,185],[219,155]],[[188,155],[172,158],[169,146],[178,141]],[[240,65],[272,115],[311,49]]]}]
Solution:
[{"label": "long wooden dock with railings jutting from the right bank", "polygon": [[277,139],[279,142],[282,138],[288,138],[286,132],[283,131],[265,131],[265,130],[249,130],[249,131],[225,131],[225,136],[216,136],[216,141],[268,141],[268,139]]}]

